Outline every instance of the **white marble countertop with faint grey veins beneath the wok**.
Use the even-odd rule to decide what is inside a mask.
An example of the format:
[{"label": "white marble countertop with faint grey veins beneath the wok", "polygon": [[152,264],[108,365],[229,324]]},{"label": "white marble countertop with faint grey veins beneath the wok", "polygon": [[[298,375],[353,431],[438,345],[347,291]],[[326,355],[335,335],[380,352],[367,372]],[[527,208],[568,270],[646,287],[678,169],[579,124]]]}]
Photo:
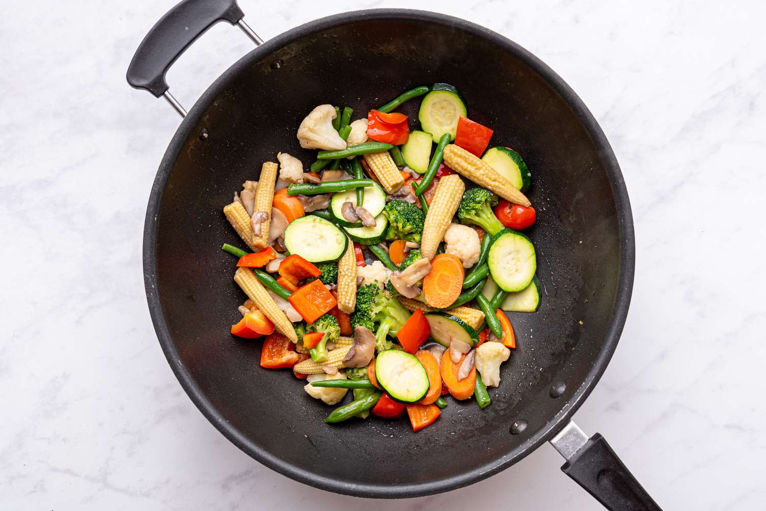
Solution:
[{"label": "white marble countertop with faint grey veins beneath the wok", "polygon": [[[549,445],[419,500],[326,493],[251,460],[191,404],[155,338],[141,270],[149,188],[179,120],[125,82],[174,3],[4,5],[0,507],[597,509]],[[437,8],[506,34],[564,77],[614,146],[637,238],[623,339],[575,419],[665,509],[763,509],[762,2],[241,6],[264,38],[354,8]],[[169,73],[175,97],[191,106],[250,47],[237,29],[213,28]]]}]

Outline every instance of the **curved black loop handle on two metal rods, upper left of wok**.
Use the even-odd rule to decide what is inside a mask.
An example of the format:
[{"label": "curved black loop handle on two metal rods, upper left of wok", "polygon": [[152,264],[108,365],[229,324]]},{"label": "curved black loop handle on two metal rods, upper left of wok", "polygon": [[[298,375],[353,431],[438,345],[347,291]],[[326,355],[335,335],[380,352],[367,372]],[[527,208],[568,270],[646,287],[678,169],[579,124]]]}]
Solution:
[{"label": "curved black loop handle on two metal rods, upper left of wok", "polygon": [[130,61],[126,78],[136,89],[149,90],[165,100],[183,117],[186,110],[169,93],[165,74],[173,63],[218,21],[237,25],[256,45],[264,41],[244,22],[237,0],[183,0],[155,23]]}]

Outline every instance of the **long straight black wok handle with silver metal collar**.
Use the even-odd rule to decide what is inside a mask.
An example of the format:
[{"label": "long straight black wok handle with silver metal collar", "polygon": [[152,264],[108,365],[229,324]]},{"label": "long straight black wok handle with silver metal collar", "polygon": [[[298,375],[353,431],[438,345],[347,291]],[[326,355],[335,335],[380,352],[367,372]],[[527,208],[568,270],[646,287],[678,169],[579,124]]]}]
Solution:
[{"label": "long straight black wok handle with silver metal collar", "polygon": [[567,460],[561,471],[610,511],[662,511],[601,434],[588,438],[570,421],[551,444]]}]

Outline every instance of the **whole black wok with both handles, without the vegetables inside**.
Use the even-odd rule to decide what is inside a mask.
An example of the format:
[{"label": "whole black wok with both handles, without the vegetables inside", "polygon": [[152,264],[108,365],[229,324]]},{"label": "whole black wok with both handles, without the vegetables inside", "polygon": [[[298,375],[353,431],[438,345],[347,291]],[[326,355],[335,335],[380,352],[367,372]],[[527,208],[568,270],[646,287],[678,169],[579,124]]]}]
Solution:
[{"label": "whole black wok with both handles, without the vegetables inside", "polygon": [[[234,0],[187,0],[152,28],[129,83],[165,95],[165,71],[215,21],[241,21]],[[228,334],[243,295],[221,243],[241,244],[221,209],[261,162],[286,151],[311,162],[295,133],[320,103],[358,118],[422,84],[447,82],[493,143],[532,171],[529,230],[542,307],[512,314],[518,348],[492,405],[450,401],[414,434],[407,421],[322,423],[328,409],[290,371],[257,364],[260,342]],[[417,119],[419,101],[401,109]],[[302,483],[356,496],[453,490],[515,464],[545,441],[610,509],[659,509],[600,435],[569,419],[594,388],[623,329],[633,284],[633,222],[601,129],[545,64],[499,34],[425,11],[357,11],[312,21],[256,47],[191,107],[170,142],[146,212],[144,274],[159,342],[195,405],[256,460]],[[182,257],[178,257],[182,255]]]}]

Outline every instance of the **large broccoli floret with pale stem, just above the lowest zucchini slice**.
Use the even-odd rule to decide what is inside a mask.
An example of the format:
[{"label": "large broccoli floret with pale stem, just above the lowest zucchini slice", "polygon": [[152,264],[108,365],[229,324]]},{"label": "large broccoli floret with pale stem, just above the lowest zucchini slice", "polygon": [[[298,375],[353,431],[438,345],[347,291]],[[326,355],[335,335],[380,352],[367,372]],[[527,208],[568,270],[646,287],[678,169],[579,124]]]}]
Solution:
[{"label": "large broccoli floret with pale stem, just above the lowest zucchini slice", "polygon": [[356,291],[356,310],[351,316],[352,326],[362,325],[375,330],[375,351],[393,349],[395,344],[387,336],[395,336],[410,318],[410,313],[399,300],[388,298],[377,284],[365,284]]}]

